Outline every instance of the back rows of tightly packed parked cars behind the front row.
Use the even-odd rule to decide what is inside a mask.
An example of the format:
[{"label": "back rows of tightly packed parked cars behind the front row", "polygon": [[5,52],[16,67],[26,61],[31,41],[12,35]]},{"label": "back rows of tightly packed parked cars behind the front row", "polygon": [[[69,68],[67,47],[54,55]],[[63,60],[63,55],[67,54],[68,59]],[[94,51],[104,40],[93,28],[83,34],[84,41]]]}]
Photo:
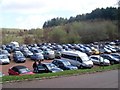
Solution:
[{"label": "back rows of tightly packed parked cars behind the front row", "polygon": [[[8,64],[10,60],[15,62],[25,62],[26,58],[31,60],[44,60],[61,58],[61,52],[76,50],[86,53],[88,56],[96,54],[119,53],[120,47],[111,44],[95,45],[95,44],[56,44],[42,43],[19,45],[18,42],[11,42],[7,45],[1,45],[0,48],[0,64]],[[3,55],[4,54],[4,55]],[[11,57],[12,56],[12,57]],[[8,59],[7,59],[8,57]]]}]

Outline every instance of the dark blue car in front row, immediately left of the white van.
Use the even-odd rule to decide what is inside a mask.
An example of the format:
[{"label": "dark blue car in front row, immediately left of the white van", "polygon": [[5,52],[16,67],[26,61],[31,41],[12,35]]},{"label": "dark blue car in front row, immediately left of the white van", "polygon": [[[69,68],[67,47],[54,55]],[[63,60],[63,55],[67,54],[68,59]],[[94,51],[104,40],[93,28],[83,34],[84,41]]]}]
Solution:
[{"label": "dark blue car in front row, immediately left of the white van", "polygon": [[54,61],[52,63],[63,70],[76,70],[76,69],[78,69],[76,66],[71,65],[71,63],[67,60],[54,59]]}]

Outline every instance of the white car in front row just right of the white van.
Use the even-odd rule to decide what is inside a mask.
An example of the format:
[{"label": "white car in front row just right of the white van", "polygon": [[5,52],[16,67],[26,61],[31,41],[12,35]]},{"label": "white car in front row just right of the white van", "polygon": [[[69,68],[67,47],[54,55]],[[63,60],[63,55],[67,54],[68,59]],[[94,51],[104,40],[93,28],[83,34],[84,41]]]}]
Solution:
[{"label": "white car in front row just right of the white van", "polygon": [[93,64],[96,65],[110,65],[110,61],[107,59],[104,59],[100,55],[92,55],[89,57],[90,60],[92,60]]}]

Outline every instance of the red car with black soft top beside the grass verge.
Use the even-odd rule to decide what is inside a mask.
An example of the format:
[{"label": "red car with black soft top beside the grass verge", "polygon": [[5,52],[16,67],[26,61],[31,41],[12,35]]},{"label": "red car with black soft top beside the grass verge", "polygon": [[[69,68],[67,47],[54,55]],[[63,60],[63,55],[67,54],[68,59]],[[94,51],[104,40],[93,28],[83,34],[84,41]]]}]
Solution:
[{"label": "red car with black soft top beside the grass verge", "polygon": [[13,66],[9,68],[8,74],[9,75],[26,75],[26,74],[34,74],[34,73],[30,71],[27,67],[18,65],[18,66]]}]

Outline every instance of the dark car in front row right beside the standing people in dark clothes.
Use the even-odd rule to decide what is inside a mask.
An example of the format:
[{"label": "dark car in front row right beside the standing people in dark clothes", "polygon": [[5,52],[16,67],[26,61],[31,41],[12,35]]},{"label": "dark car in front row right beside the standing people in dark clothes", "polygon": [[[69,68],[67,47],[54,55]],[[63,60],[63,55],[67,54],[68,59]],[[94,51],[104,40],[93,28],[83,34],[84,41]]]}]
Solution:
[{"label": "dark car in front row right beside the standing people in dark clothes", "polygon": [[41,64],[46,69],[47,72],[55,73],[55,72],[63,71],[62,69],[58,68],[53,63],[41,63]]}]

